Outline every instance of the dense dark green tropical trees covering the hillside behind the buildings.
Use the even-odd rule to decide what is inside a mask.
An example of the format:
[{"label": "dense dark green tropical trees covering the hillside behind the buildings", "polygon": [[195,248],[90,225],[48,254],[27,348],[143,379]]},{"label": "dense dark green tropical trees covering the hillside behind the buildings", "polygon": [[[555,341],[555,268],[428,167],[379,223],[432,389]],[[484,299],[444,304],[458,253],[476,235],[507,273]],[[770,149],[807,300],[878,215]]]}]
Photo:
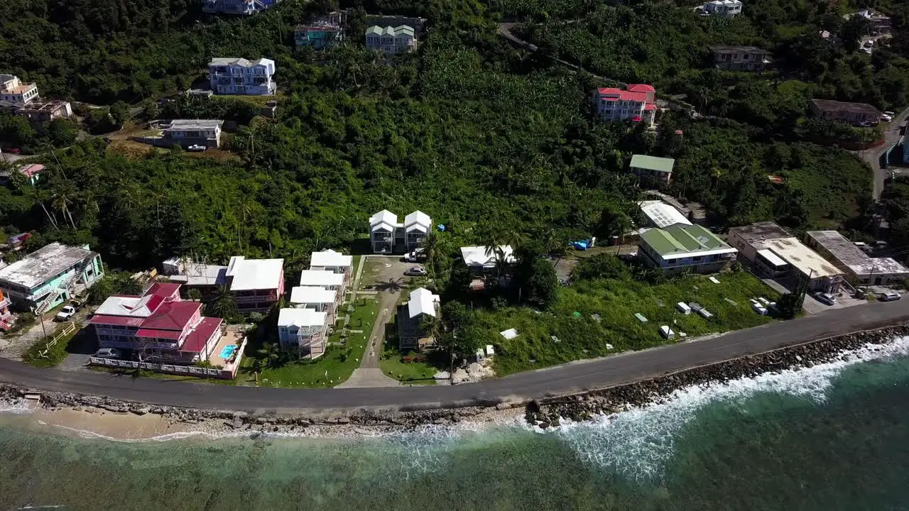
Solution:
[{"label": "dense dark green tropical trees covering the hillside behind the buildings", "polygon": [[[70,146],[39,157],[50,172],[38,185],[0,188],[0,225],[35,232],[31,246],[90,243],[108,266],[125,269],[175,254],[211,262],[272,255],[285,257],[293,276],[314,249],[357,250],[375,211],[420,209],[446,226],[427,264],[436,286],[469,278],[450,264],[459,244],[535,240],[515,270],[522,286],[504,298],[565,311],[578,298],[555,288],[544,255],[634,225],[641,196],[624,172],[634,153],[674,157],[669,192],[701,202],[719,228],[768,219],[797,229],[866,225],[867,165],[812,142],[866,134],[804,117],[811,97],[894,110],[907,103],[904,4],[880,5],[897,35],[874,55],[857,52],[848,36],[865,30],[842,18],[857,5],[762,0],[721,20],[699,18],[687,3],[614,4],[285,0],[239,19],[204,15],[197,0],[15,2],[0,20],[0,69],[35,81],[45,96],[105,105],[81,110],[88,134],[158,116],[215,116],[240,127],[225,136],[232,158],[151,148],[125,155],[100,137],[75,142],[63,122],[35,129],[0,117],[5,145]],[[352,9],[348,42],[318,53],[295,48],[294,25],[336,6]],[[389,65],[359,43],[366,12],[421,15],[430,29],[419,51]],[[589,97],[602,81],[514,49],[497,34],[503,20],[551,55],[596,75],[653,83],[659,96],[684,96],[707,117],[667,112],[659,136],[598,122]],[[767,48],[777,69],[718,71],[707,49],[716,44]],[[204,82],[214,55],[275,59],[276,119],[246,100],[155,102]],[[137,118],[130,107],[140,107]],[[592,292],[638,286],[609,265],[588,269],[613,272],[596,276]],[[467,316],[458,328],[484,321]]]}]

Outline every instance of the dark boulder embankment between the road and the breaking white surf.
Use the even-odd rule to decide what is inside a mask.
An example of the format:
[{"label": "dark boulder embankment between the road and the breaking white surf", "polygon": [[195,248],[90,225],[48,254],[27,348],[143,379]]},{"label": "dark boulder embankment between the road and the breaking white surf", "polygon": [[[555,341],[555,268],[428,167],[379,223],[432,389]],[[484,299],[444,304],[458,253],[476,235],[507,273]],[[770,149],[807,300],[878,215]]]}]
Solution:
[{"label": "dark boulder embankment between the road and the breaking white surf", "polygon": [[812,367],[838,358],[849,360],[859,354],[844,355],[866,345],[884,345],[897,336],[909,336],[909,326],[894,326],[836,336],[790,346],[752,356],[743,356],[710,366],[702,366],[666,376],[594,390],[575,396],[533,400],[525,406],[524,419],[531,425],[547,428],[559,426],[563,418],[573,421],[589,420],[596,415],[608,415],[644,406],[670,396],[689,386],[724,383],[730,380],[758,376],[795,367]]}]

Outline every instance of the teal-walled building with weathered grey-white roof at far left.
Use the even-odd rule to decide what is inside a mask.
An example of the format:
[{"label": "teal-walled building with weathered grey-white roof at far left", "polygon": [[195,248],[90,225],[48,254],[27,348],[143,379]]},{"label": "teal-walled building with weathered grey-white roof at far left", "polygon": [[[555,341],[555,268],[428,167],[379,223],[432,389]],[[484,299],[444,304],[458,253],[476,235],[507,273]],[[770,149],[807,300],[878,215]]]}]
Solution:
[{"label": "teal-walled building with weathered grey-white roof at far left", "polygon": [[85,246],[52,243],[0,269],[0,289],[15,306],[48,310],[104,276],[101,255]]}]

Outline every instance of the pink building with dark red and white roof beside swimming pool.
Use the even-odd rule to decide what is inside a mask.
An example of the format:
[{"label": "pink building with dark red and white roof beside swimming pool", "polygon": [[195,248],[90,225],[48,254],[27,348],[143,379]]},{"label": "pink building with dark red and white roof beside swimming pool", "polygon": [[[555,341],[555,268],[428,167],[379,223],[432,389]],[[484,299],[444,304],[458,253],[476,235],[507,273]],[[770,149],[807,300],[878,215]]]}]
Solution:
[{"label": "pink building with dark red and white roof beside swimming pool", "polygon": [[148,362],[193,364],[215,350],[223,320],[181,300],[180,285],[156,282],[142,296],[107,298],[88,322],[101,347],[138,350]]}]

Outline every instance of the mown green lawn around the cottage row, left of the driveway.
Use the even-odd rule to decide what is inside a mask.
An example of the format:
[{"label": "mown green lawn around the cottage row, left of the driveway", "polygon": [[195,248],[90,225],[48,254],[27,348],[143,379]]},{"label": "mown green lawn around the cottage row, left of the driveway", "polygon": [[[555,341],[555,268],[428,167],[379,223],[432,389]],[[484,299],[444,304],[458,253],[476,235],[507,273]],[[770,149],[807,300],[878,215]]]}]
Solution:
[{"label": "mown green lawn around the cottage row, left of the driveway", "polygon": [[[326,388],[344,383],[354,373],[354,369],[360,366],[360,359],[364,353],[366,340],[373,331],[378,309],[379,305],[375,299],[361,296],[356,300],[350,328],[363,330],[362,334],[349,334],[345,346],[340,346],[336,343],[340,342],[342,331],[341,328],[335,328],[335,333],[329,337],[325,355],[315,361],[287,361],[281,366],[266,368],[259,374],[259,385]],[[277,342],[277,339],[274,341]],[[247,346],[246,356],[237,376],[241,383],[255,382],[252,368],[256,352],[260,348],[261,344],[251,343]]]}]

